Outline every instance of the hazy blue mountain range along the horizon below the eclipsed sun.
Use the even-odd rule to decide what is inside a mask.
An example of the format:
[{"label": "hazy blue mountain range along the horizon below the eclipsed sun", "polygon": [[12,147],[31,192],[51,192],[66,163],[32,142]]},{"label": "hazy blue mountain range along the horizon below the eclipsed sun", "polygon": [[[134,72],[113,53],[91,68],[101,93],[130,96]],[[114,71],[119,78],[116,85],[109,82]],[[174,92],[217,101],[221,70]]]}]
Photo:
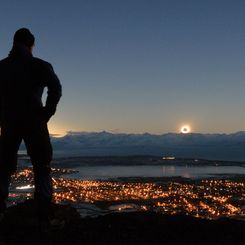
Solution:
[{"label": "hazy blue mountain range along the horizon below the eclipsed sun", "polygon": [[54,154],[66,156],[156,155],[245,161],[245,132],[232,134],[162,135],[68,132],[51,137]]}]

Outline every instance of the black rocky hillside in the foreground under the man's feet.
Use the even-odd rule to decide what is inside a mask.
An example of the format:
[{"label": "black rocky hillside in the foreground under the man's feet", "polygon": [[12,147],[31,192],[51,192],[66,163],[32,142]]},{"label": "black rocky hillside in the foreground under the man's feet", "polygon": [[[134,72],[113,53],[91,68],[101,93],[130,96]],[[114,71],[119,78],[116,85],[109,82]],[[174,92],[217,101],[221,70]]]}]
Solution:
[{"label": "black rocky hillside in the foreground under the man's feet", "polygon": [[65,226],[40,232],[32,202],[9,208],[0,225],[0,245],[245,244],[244,221],[210,221],[147,212],[81,219],[74,208],[61,205],[55,205],[55,215],[66,220]]}]

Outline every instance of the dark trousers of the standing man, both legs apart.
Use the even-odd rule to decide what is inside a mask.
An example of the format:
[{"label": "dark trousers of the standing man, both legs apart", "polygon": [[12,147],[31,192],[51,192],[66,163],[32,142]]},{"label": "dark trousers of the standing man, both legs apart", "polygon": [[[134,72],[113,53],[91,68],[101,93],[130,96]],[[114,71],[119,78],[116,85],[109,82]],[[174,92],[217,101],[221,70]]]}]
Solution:
[{"label": "dark trousers of the standing man, both legs apart", "polygon": [[24,140],[33,165],[34,198],[38,212],[42,215],[48,212],[52,199],[52,179],[50,176],[52,146],[45,122],[15,123],[14,126],[11,124],[2,126],[0,136],[0,211],[6,205],[10,177],[17,168],[17,152],[22,140]]}]

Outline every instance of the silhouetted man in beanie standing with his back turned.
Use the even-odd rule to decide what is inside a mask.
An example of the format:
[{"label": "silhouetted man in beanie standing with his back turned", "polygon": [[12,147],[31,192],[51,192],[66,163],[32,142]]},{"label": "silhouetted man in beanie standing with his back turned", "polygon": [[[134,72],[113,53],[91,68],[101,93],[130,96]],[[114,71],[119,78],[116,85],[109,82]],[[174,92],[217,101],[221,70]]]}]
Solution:
[{"label": "silhouetted man in beanie standing with his back turned", "polygon": [[[32,56],[34,42],[28,29],[19,29],[8,57],[0,61],[0,213],[6,209],[10,177],[16,171],[17,152],[24,140],[33,165],[34,199],[39,217],[45,219],[52,199],[47,122],[56,111],[61,85],[51,64]],[[43,106],[45,87],[48,95]]]}]

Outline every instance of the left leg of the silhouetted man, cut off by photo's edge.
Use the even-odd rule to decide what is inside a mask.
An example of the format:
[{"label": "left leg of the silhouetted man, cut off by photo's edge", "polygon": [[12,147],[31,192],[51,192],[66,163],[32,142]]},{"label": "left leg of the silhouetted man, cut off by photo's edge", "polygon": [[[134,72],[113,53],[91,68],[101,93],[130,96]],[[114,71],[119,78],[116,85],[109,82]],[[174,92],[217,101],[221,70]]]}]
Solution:
[{"label": "left leg of the silhouetted man, cut off by photo's edge", "polygon": [[6,208],[11,175],[17,168],[21,135],[17,129],[2,127],[0,136],[0,212]]}]

